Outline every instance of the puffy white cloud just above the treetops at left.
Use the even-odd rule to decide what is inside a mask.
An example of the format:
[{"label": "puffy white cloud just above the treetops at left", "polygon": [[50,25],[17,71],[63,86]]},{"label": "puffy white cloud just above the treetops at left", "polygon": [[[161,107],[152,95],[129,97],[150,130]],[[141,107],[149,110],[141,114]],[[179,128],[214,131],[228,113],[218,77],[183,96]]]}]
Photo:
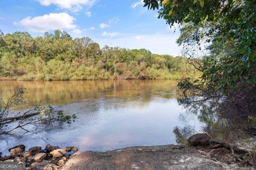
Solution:
[{"label": "puffy white cloud just above the treetops at left", "polygon": [[73,23],[75,18],[67,13],[50,13],[43,16],[35,16],[20,21],[20,25],[27,28],[29,31],[46,32],[56,29],[76,29]]}]

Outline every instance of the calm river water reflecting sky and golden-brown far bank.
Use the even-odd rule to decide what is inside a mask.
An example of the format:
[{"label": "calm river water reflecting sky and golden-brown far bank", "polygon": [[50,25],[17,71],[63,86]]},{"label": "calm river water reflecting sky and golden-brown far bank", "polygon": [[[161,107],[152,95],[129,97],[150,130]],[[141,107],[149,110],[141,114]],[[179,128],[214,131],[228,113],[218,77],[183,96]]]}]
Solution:
[{"label": "calm river water reflecting sky and golden-brown far bank", "polygon": [[77,120],[60,128],[0,136],[0,151],[17,144],[44,147],[77,146],[80,150],[111,150],[128,146],[177,142],[174,128],[201,131],[197,116],[177,102],[175,81],[0,81],[3,97],[15,87],[26,88],[26,102],[15,111],[34,106],[61,106]]}]

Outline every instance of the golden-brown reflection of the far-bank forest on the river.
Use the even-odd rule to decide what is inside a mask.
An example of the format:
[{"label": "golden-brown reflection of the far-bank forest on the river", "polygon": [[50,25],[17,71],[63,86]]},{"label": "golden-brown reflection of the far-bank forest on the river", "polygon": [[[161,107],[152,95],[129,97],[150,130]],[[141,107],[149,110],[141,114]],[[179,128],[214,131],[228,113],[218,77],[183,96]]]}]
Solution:
[{"label": "golden-brown reflection of the far-bank forest on the river", "polygon": [[[97,99],[118,99],[115,107],[135,103],[147,105],[154,97],[176,98],[175,81],[2,81],[3,97],[13,93],[14,87],[26,88],[25,109],[37,105],[63,105]],[[161,92],[159,92],[161,91]],[[109,105],[107,103],[106,105]],[[113,106],[114,106],[113,105]]]}]

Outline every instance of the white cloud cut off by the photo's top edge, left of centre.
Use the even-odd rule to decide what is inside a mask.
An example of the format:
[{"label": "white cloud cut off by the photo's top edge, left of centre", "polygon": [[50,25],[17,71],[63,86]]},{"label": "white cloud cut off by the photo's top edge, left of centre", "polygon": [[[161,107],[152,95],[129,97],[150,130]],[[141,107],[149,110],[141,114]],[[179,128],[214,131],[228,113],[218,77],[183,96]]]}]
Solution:
[{"label": "white cloud cut off by the photo's top edge, left of centre", "polygon": [[57,5],[61,9],[67,9],[72,12],[79,12],[83,5],[92,6],[95,0],[37,0],[41,5],[49,6],[51,4]]}]

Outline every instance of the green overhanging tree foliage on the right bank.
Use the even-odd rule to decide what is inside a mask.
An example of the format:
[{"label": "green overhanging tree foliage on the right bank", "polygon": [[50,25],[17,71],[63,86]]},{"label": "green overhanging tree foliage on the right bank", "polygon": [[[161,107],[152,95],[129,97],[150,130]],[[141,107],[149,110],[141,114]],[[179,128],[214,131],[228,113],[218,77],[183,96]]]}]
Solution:
[{"label": "green overhanging tree foliage on the right bank", "polygon": [[[255,0],[144,2],[149,2],[146,6],[157,2],[161,6],[159,18],[170,25],[182,25],[177,42],[184,46],[188,56],[196,57],[196,46],[199,51],[205,49],[198,67],[203,74],[196,80],[197,87],[203,89],[201,94],[218,96],[228,94],[241,84],[255,86]],[[195,82],[190,82],[193,84]]]}]

